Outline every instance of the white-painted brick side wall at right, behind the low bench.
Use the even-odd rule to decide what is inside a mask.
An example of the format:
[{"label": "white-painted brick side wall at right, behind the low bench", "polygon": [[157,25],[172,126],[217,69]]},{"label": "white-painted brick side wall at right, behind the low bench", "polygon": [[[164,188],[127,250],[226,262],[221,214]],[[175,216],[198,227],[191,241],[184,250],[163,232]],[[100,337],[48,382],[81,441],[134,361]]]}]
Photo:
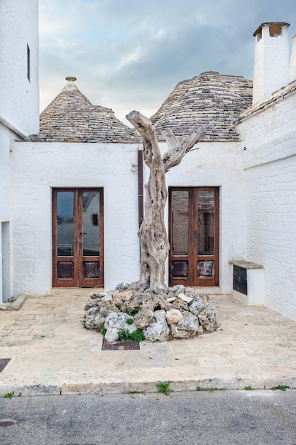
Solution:
[{"label": "white-painted brick side wall at right, behind the low bench", "polygon": [[[283,92],[280,92],[283,96]],[[246,178],[246,252],[265,268],[265,304],[296,319],[296,94],[239,124]]]}]

